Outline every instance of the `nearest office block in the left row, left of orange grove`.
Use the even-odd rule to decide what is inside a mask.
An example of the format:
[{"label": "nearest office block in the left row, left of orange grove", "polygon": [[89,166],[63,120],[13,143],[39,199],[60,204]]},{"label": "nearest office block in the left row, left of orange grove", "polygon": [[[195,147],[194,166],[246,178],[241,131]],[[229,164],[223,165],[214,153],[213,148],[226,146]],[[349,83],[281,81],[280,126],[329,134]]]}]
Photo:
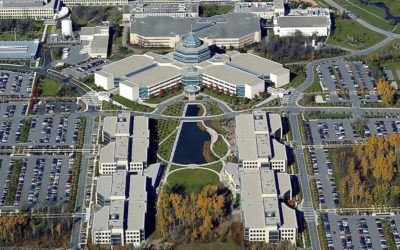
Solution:
[{"label": "nearest office block in the left row, left of orange grove", "polygon": [[100,176],[96,203],[101,209],[93,216],[93,243],[140,247],[146,234],[147,177],[125,170]]}]

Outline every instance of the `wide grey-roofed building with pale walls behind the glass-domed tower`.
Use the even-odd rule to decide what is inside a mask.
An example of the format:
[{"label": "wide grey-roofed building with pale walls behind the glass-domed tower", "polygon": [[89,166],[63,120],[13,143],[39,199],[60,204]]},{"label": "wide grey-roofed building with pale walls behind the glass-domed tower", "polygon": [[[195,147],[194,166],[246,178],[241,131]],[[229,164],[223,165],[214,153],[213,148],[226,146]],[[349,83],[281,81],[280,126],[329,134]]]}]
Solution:
[{"label": "wide grey-roofed building with pale walls behind the glass-domed tower", "polygon": [[135,18],[131,22],[130,43],[174,48],[191,31],[210,46],[241,48],[261,41],[259,17],[250,13],[229,13],[209,18]]}]

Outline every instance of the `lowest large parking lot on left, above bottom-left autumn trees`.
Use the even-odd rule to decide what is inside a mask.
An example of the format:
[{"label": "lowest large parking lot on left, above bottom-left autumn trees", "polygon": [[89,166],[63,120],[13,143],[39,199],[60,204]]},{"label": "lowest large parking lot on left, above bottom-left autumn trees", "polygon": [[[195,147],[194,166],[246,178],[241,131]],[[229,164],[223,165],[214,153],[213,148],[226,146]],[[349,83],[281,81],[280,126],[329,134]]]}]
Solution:
[{"label": "lowest large parking lot on left, above bottom-left autumn trees", "polygon": [[[15,192],[13,168],[19,158],[2,156],[0,167],[0,206],[29,207],[59,205],[69,201],[74,156],[43,155],[21,158],[22,167],[18,174]],[[15,188],[14,187],[14,188]],[[11,200],[11,204],[7,203]]]}]

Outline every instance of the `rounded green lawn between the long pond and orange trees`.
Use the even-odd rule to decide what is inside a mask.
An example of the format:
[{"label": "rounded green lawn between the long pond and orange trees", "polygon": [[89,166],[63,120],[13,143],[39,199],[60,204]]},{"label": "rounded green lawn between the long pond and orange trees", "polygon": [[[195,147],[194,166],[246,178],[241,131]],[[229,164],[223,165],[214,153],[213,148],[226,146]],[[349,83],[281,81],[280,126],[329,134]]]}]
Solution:
[{"label": "rounded green lawn between the long pond and orange trees", "polygon": [[172,186],[180,186],[190,194],[193,191],[200,192],[207,185],[216,185],[219,177],[211,171],[204,169],[184,169],[168,176],[167,182]]}]

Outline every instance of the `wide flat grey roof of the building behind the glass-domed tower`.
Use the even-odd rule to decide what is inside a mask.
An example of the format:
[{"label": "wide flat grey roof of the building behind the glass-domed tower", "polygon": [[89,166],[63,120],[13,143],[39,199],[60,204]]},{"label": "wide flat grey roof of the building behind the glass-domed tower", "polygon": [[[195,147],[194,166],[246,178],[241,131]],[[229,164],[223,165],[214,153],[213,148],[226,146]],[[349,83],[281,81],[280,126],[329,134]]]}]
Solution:
[{"label": "wide flat grey roof of the building behind the glass-domed tower", "polygon": [[260,32],[260,20],[250,13],[229,13],[209,18],[147,16],[131,22],[131,33],[145,37],[183,36],[191,30],[200,38],[237,38]]}]

